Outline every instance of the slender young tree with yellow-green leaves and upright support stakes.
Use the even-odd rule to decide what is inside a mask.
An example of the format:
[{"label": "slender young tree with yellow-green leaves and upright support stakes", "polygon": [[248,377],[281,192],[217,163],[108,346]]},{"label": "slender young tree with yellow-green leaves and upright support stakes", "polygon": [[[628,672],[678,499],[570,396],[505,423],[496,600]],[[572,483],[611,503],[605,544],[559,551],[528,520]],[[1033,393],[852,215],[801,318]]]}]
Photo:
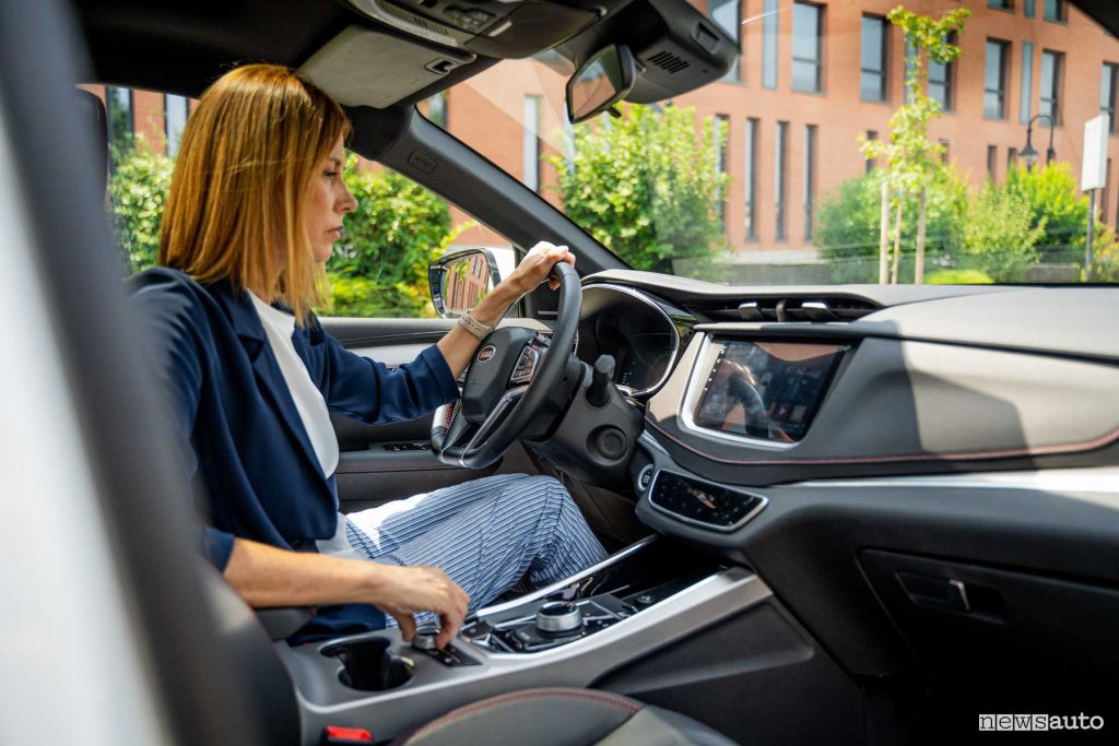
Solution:
[{"label": "slender young tree with yellow-green leaves and upright support stakes", "polygon": [[[890,117],[888,141],[863,139],[863,151],[868,159],[885,162],[881,189],[880,268],[878,282],[886,282],[887,236],[886,226],[893,225],[894,249],[890,262],[890,280],[896,283],[901,268],[902,220],[905,200],[918,196],[916,253],[914,282],[924,280],[927,189],[932,170],[939,164],[943,148],[929,141],[929,122],[941,115],[940,103],[927,95],[928,63],[948,65],[960,57],[960,48],[949,41],[963,31],[971,11],[960,8],[939,18],[921,16],[897,6],[886,17],[900,27],[912,48],[905,56],[905,100]],[[891,201],[891,195],[893,195]],[[891,216],[891,209],[893,215]]]}]

